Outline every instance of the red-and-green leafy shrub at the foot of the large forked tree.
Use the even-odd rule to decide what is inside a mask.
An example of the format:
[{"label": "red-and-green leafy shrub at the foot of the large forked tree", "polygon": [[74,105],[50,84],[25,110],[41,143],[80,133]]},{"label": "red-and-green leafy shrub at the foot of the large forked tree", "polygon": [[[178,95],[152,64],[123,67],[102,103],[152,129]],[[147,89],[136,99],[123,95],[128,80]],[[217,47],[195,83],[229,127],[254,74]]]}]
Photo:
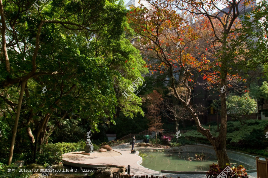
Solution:
[{"label": "red-and-green leafy shrub at the foot of the large forked tree", "polygon": [[[239,165],[237,167],[231,167],[231,169],[233,170],[233,172],[228,172],[227,176],[228,178],[232,177],[232,178],[248,178],[247,176],[247,172],[246,169],[244,168],[244,166]],[[220,168],[219,165],[217,164],[212,164],[209,166],[209,170],[206,173],[207,178],[217,178],[217,176],[223,171],[223,168]]]}]

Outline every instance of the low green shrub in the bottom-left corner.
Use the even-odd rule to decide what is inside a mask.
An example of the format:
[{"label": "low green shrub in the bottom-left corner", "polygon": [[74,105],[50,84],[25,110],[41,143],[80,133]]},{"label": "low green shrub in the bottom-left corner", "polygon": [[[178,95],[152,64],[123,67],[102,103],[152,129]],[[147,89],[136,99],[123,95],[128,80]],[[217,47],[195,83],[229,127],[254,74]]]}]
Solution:
[{"label": "low green shrub in the bottom-left corner", "polygon": [[[24,167],[21,167],[21,169],[24,169]],[[15,169],[14,172],[7,172],[7,169]],[[18,166],[15,164],[10,164],[9,166],[0,163],[0,177],[4,178],[28,178],[31,176],[32,172],[19,172]]]}]

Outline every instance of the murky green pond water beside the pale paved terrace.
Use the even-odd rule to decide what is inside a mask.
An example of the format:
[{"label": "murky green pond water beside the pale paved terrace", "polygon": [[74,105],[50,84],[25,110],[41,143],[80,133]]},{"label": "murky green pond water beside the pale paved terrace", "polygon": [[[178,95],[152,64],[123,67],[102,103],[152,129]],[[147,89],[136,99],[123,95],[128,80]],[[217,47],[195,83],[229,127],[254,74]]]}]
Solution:
[{"label": "murky green pond water beside the pale paved terrace", "polygon": [[[140,151],[140,156],[143,158],[142,166],[155,170],[169,170],[169,171],[208,171],[209,165],[217,164],[217,158],[213,155],[203,154],[201,160],[189,160],[189,157],[195,159],[195,153],[177,153],[177,152],[147,152]],[[193,159],[191,158],[191,159]],[[251,166],[230,160],[231,166],[243,165],[246,169],[254,169]]]}]

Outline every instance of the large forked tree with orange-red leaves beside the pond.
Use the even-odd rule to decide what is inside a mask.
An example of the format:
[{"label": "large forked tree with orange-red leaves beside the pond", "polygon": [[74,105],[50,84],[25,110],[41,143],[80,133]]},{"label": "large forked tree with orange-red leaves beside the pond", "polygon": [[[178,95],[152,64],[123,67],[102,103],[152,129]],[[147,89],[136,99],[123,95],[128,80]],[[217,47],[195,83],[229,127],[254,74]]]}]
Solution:
[{"label": "large forked tree with orange-red leaves beside the pond", "polygon": [[[193,0],[148,0],[148,2],[150,7],[144,7],[142,4],[141,7],[131,7],[131,12],[128,14],[128,22],[137,33],[138,40],[135,46],[146,56],[147,65],[152,74],[159,72],[159,74],[169,76],[169,79],[164,80],[169,81],[174,96],[194,118],[197,131],[211,142],[219,166],[226,166],[226,163],[230,163],[226,152],[226,91],[220,93],[222,119],[218,137],[213,136],[209,129],[202,127],[197,112],[190,102],[191,91],[198,75],[204,75],[204,80],[209,82],[210,87],[216,86],[218,91],[222,87],[226,90],[226,86],[232,86],[231,82],[241,80],[237,74],[232,74],[232,64],[242,60],[243,57],[237,57],[236,49],[230,49],[229,44],[236,35],[232,31],[233,26],[239,25],[237,17],[241,8],[238,6],[243,3],[226,1],[225,4],[229,3],[229,6],[225,12],[219,7],[216,8],[213,1],[205,1],[205,9],[202,7],[204,5],[202,2]],[[207,26],[208,36],[211,36],[210,39],[206,39],[207,45],[204,43],[204,35],[198,33],[200,32],[198,23],[189,26],[189,23],[177,13],[179,9],[189,11],[189,14],[193,13],[196,15],[196,20],[202,20],[198,21],[201,26]],[[217,10],[221,13],[220,17],[212,13]],[[196,46],[200,38],[203,40],[201,50]],[[208,60],[207,52],[212,54],[209,59],[212,58],[213,61]],[[174,79],[175,74],[179,74],[178,81]],[[185,95],[181,92],[181,88],[186,90]]]}]

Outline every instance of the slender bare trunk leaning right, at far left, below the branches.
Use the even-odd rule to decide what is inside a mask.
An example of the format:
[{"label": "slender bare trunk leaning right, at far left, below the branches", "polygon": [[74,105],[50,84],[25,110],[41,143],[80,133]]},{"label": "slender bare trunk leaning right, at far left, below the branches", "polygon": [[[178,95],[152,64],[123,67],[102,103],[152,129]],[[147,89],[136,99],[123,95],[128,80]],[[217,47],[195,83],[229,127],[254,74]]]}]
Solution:
[{"label": "slender bare trunk leaning right, at far left, below the branches", "polygon": [[20,93],[20,97],[18,100],[17,113],[16,113],[16,117],[15,117],[15,124],[14,124],[14,128],[13,128],[13,133],[12,133],[10,152],[9,152],[9,158],[8,158],[7,165],[10,165],[12,162],[15,139],[16,139],[17,128],[18,128],[18,120],[19,120],[20,112],[21,112],[21,105],[22,105],[22,99],[23,99],[23,95],[24,95],[25,84],[26,84],[26,81],[23,81],[21,83],[21,93]]}]

